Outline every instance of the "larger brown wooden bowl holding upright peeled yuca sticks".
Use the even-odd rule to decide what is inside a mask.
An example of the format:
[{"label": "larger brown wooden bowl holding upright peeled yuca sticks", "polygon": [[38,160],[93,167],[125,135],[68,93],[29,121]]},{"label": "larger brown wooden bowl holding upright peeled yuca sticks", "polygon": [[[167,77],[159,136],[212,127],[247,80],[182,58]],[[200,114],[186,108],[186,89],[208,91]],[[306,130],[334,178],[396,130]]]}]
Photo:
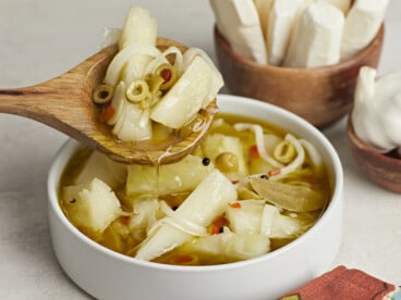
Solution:
[{"label": "larger brown wooden bowl holding upright peeled yuca sticks", "polygon": [[315,68],[262,65],[236,54],[216,26],[214,36],[219,68],[230,92],[276,104],[325,127],[350,111],[360,67],[377,67],[384,33],[382,25],[357,55]]}]

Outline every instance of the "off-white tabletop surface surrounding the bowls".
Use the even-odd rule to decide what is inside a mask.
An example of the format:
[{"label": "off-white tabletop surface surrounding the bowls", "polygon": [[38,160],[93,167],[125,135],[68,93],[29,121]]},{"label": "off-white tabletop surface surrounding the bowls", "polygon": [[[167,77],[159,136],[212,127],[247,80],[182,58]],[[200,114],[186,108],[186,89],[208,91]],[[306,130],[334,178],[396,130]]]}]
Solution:
[{"label": "off-white tabletop surface surrounding the bowls", "polygon": [[[0,88],[37,84],[98,50],[104,27],[121,27],[133,3],[151,11],[159,35],[200,47],[216,58],[207,0],[2,0]],[[379,73],[401,70],[401,1],[386,16]],[[324,132],[344,168],[343,241],[333,266],[344,264],[401,284],[401,195],[360,172],[345,120]],[[47,222],[46,179],[66,136],[37,122],[0,115],[0,299],[90,299],[58,265]]]}]

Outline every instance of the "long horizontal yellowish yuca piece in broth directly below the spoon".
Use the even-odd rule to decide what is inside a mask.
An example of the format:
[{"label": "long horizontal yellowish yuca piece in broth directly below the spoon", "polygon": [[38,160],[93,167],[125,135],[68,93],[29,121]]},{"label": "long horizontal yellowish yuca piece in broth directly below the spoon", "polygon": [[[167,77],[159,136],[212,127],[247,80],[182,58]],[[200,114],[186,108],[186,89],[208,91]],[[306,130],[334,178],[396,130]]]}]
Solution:
[{"label": "long horizontal yellowish yuca piece in broth directly below the spoon", "polygon": [[204,165],[202,158],[186,155],[182,160],[159,166],[132,164],[127,166],[126,195],[153,195],[157,190],[160,196],[184,192],[195,189],[214,170],[214,164]]}]

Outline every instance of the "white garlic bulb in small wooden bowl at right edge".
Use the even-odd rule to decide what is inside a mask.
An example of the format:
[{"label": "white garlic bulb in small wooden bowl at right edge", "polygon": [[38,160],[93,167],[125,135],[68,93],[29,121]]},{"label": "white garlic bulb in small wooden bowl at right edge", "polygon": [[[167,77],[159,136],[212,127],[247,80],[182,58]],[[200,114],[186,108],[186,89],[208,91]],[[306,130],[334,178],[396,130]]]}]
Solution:
[{"label": "white garlic bulb in small wooden bowl at right edge", "polygon": [[385,153],[401,147],[401,72],[377,77],[377,71],[360,70],[354,109],[355,134],[372,149]]}]

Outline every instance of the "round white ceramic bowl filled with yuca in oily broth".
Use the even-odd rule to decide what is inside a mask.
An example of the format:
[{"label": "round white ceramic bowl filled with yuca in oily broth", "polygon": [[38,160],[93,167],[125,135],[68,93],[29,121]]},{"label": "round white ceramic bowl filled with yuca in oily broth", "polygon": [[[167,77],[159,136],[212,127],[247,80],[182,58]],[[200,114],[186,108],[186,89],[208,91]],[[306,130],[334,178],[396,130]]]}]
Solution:
[{"label": "round white ceramic bowl filled with yuca in oily broth", "polygon": [[341,242],[343,174],[331,143],[299,116],[260,101],[221,95],[220,110],[277,124],[312,141],[326,161],[333,197],[318,222],[295,241],[259,258],[211,266],[175,266],[138,261],[97,245],[64,216],[58,202],[62,171],[78,145],[69,140],[48,177],[50,232],[64,272],[97,299],[235,300],[277,299],[332,267]]}]

